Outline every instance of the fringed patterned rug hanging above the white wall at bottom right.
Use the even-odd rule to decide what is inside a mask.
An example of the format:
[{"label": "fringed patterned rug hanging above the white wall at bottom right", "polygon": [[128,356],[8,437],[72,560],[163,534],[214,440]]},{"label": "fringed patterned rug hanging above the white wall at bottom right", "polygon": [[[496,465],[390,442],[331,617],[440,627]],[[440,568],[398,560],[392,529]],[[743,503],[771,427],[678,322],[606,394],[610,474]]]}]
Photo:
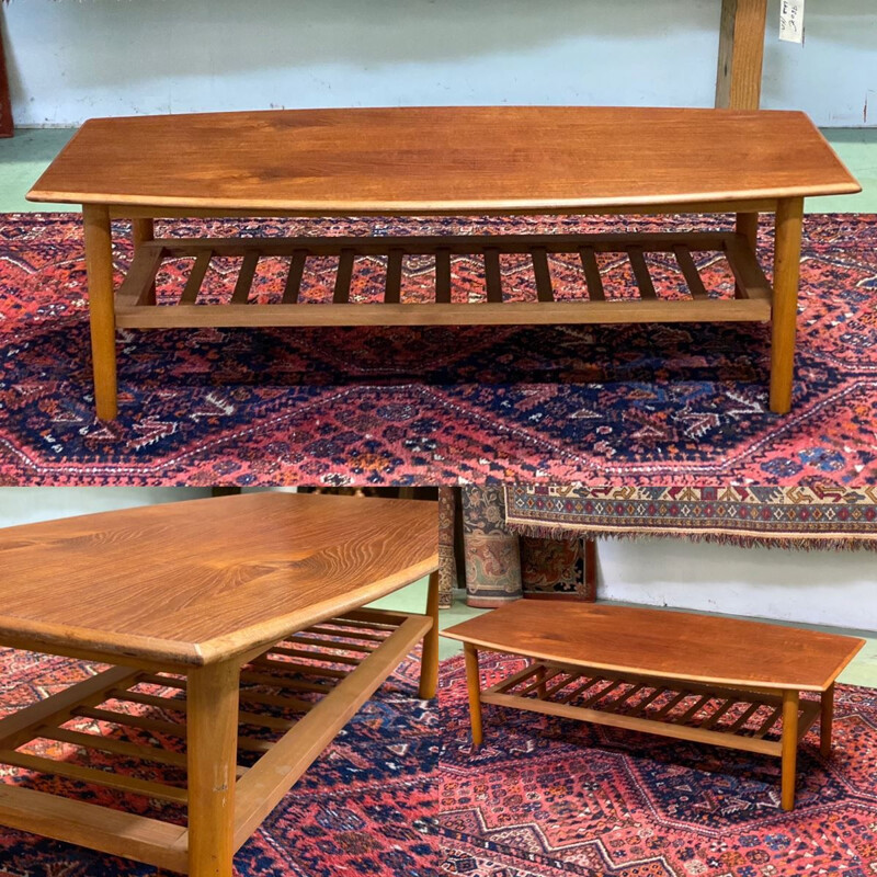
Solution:
[{"label": "fringed patterned rug hanging above the white wall at bottom right", "polygon": [[508,533],[673,536],[742,546],[877,549],[877,485],[583,487],[512,485]]}]

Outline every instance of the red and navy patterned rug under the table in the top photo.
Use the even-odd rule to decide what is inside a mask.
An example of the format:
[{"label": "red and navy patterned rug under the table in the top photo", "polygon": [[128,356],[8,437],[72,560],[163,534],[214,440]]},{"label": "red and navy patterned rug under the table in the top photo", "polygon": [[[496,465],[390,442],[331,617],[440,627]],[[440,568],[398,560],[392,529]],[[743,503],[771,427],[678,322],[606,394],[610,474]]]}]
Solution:
[{"label": "red and navy patterned rug under the table in the top photo", "polygon": [[[659,226],[532,217],[297,228],[383,235]],[[291,228],[252,223],[243,234]],[[181,223],[170,234],[203,231],[203,224]],[[763,244],[770,248],[766,230]],[[92,410],[79,221],[5,216],[0,482],[861,483],[877,468],[876,253],[875,217],[808,217],[798,379],[786,418],[767,410],[766,327],[675,324],[125,331],[122,414],[101,424]],[[129,255],[123,242],[119,270]],[[731,294],[727,265],[710,258],[699,264],[708,284]],[[673,295],[679,281],[661,260],[651,270]],[[331,298],[332,266],[311,261],[305,296]],[[254,295],[271,299],[281,266],[263,262]],[[573,295],[580,269],[562,257],[550,269],[558,295]],[[160,287],[180,270],[167,265]],[[626,295],[629,265],[619,259],[603,270],[607,289]],[[409,261],[403,299],[417,298],[432,271]],[[510,297],[532,294],[529,271],[511,260],[503,272]],[[374,294],[377,273],[357,262],[354,298]],[[214,274],[218,285],[227,280],[221,264]],[[455,298],[481,295],[475,259],[455,261],[454,277]]]}]

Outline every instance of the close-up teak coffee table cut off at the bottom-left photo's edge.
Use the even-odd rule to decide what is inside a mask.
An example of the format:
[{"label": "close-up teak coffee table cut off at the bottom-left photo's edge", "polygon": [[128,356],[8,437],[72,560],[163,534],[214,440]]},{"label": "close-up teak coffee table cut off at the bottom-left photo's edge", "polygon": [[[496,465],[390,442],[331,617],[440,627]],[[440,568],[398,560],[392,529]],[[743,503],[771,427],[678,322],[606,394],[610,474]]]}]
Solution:
[{"label": "close-up teak coffee table cut off at the bottom-left photo's edge", "polygon": [[[435,504],[418,501],[261,493],[0,531],[0,645],[113,664],[0,720],[0,763],[27,772],[0,783],[0,823],[231,877],[420,641],[420,696],[435,694],[437,566]],[[362,608],[424,576],[425,615]],[[50,794],[34,774],[125,797]],[[180,812],[141,815],[157,805]]]}]

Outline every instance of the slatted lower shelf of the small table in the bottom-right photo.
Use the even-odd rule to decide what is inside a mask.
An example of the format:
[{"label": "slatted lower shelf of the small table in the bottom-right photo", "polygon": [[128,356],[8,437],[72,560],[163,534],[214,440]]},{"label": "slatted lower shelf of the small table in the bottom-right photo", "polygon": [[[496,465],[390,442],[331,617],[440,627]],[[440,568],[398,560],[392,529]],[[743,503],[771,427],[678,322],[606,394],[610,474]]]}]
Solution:
[{"label": "slatted lower shelf of the small table in the bottom-right photo", "polygon": [[[549,716],[782,755],[783,697],[695,682],[618,675],[535,661],[481,692],[481,702]],[[819,718],[817,701],[800,701],[798,739]]]}]

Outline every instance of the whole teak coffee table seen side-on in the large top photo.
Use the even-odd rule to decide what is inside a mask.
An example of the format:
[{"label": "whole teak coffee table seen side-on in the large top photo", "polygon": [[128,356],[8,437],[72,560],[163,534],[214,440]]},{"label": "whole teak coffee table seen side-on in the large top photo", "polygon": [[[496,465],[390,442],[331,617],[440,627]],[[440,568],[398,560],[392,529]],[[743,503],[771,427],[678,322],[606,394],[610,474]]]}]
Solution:
[{"label": "whole teak coffee table seen side-on in the large top photo", "polygon": [[[443,107],[219,113],[92,119],[29,194],[82,204],[98,414],[117,412],[115,329],[771,321],[771,408],[791,405],[804,198],[859,191],[801,113],[605,107]],[[756,259],[758,214],[776,214],[773,288]],[[727,214],[736,229],[692,234],[155,239],[156,217],[479,214]],[[110,223],[134,223],[135,255],[114,292]],[[483,260],[480,300],[454,300],[455,257]],[[504,300],[517,254],[531,300]],[[556,297],[550,262],[581,262],[581,293]],[[311,258],[335,264],[331,304],[299,300]],[[434,301],[406,301],[405,260],[434,260]],[[224,300],[203,294],[215,259],[239,266]],[[255,304],[263,258],[285,260],[276,300]],[[156,299],[167,259],[183,288]],[[602,260],[626,260],[638,297],[604,288]],[[650,262],[676,265],[672,291]],[[727,261],[732,297],[698,270]],[[356,301],[363,263],[383,301]],[[354,294],[351,294],[351,289]],[[668,292],[674,293],[668,296]],[[681,293],[681,295],[679,295]],[[205,300],[209,298],[209,301]]]}]

